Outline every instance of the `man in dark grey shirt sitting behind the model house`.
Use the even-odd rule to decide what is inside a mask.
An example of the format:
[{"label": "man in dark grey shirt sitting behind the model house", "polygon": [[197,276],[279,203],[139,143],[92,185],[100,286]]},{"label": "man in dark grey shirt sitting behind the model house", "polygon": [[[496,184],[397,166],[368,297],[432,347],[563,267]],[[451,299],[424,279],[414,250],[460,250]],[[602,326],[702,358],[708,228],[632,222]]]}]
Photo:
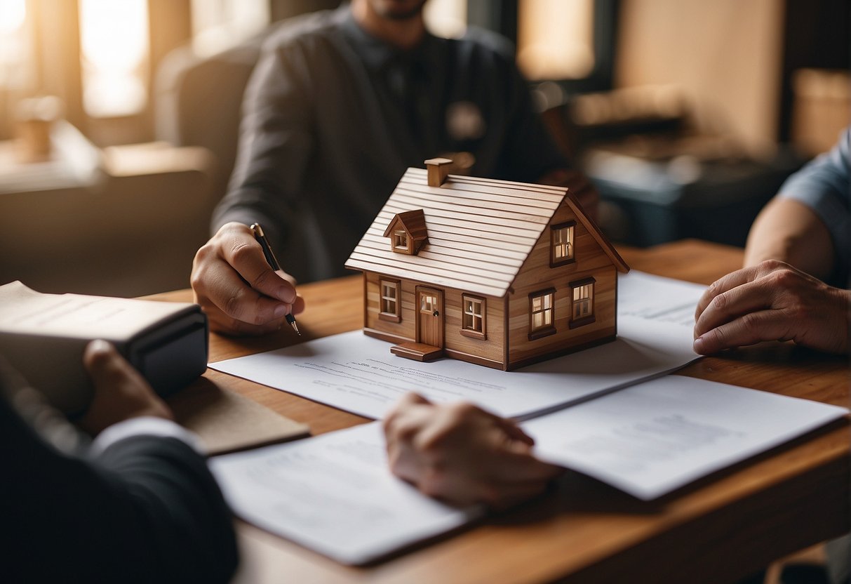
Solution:
[{"label": "man in dark grey shirt sitting behind the model house", "polygon": [[[493,33],[434,37],[425,0],[353,0],[290,20],[248,83],[237,162],[192,267],[211,329],[277,330],[303,281],[343,265],[408,167],[568,186],[596,215],[597,192],[534,112],[513,50]],[[248,226],[260,222],[283,270]],[[294,278],[289,277],[291,274]]]}]

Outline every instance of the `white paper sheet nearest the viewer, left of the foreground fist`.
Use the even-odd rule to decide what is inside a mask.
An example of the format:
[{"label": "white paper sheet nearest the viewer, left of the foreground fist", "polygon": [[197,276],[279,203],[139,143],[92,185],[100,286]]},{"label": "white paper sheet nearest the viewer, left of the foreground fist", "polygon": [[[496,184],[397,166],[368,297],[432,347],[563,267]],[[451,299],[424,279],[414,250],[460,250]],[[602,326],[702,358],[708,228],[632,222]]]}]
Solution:
[{"label": "white paper sheet nearest the viewer, left of the foreground fist", "polygon": [[209,465],[239,517],[344,564],[365,564],[484,511],[450,507],[393,477],[379,422]]}]

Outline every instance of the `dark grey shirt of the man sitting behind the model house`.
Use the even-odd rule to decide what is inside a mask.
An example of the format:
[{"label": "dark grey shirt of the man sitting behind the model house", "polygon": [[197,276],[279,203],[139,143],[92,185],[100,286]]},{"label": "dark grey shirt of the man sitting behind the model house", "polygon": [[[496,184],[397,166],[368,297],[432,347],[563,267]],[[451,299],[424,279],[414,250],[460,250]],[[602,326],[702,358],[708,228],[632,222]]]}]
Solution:
[{"label": "dark grey shirt of the man sitting behind the model house", "polygon": [[408,167],[470,152],[471,175],[534,181],[566,161],[504,39],[426,35],[410,51],[344,6],[285,23],[246,89],[237,163],[214,213],[260,221],[302,282],[343,264]]}]

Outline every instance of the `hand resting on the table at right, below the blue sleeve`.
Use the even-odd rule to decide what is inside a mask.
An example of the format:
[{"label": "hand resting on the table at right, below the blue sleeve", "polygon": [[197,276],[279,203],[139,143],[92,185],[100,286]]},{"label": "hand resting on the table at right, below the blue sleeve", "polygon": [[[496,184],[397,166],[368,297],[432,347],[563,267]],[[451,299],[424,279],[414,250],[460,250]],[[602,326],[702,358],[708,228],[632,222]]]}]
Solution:
[{"label": "hand resting on the table at right, below the blue sleeve", "polygon": [[694,352],[709,355],[760,341],[795,341],[848,352],[851,292],[783,261],[763,261],[717,280],[694,312]]}]

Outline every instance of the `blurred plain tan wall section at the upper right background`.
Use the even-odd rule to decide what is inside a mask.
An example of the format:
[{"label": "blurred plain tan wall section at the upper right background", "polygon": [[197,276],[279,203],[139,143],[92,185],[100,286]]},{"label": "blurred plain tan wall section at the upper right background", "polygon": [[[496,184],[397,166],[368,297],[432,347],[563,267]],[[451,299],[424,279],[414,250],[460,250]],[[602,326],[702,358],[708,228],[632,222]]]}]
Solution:
[{"label": "blurred plain tan wall section at the upper right background", "polygon": [[615,86],[674,83],[702,127],[776,140],[784,3],[622,0]]}]

